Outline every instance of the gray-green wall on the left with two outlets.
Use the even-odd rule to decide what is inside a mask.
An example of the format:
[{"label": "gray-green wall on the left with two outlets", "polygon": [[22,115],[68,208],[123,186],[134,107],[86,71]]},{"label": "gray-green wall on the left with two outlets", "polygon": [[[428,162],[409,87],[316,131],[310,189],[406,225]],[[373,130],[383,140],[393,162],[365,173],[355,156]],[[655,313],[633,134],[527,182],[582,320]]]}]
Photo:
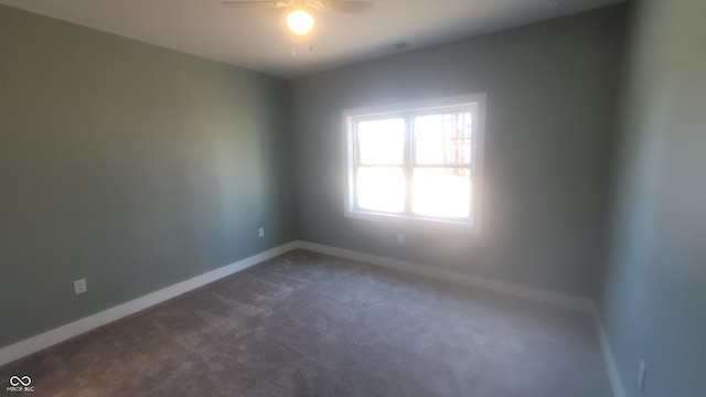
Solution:
[{"label": "gray-green wall on the left with two outlets", "polygon": [[0,346],[293,239],[287,93],[0,6]]}]

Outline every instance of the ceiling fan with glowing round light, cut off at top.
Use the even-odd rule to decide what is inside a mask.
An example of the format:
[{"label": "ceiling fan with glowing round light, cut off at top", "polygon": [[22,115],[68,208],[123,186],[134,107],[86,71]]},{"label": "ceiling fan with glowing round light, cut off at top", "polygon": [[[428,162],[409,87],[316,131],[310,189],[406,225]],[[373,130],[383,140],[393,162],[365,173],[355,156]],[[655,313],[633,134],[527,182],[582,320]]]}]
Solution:
[{"label": "ceiling fan with glowing round light, cut off at top", "polygon": [[307,8],[321,12],[370,13],[374,9],[373,1],[364,0],[232,0],[223,1],[225,7],[264,6],[271,8],[292,8],[287,14],[287,25],[298,35],[304,35],[313,28],[313,17]]}]

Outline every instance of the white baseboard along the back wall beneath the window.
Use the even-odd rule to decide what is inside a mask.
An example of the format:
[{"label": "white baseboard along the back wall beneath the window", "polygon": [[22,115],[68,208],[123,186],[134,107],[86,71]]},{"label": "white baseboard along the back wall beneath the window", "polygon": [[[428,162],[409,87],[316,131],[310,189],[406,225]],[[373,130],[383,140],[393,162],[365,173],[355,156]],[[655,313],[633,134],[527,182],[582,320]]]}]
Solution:
[{"label": "white baseboard along the back wall beneath the window", "polygon": [[439,280],[471,286],[493,292],[504,293],[527,300],[544,302],[556,307],[592,312],[593,302],[590,299],[574,297],[566,293],[546,291],[538,288],[520,286],[511,282],[498,281],[485,277],[460,273],[451,270],[434,268],[413,264],[404,260],[384,258],[375,255],[363,254],[343,248],[336,248],[314,243],[299,242],[299,248],[309,249],[315,253],[338,256],[341,258],[359,260],[362,262],[377,265],[395,270],[411,272],[419,276],[430,277]]}]

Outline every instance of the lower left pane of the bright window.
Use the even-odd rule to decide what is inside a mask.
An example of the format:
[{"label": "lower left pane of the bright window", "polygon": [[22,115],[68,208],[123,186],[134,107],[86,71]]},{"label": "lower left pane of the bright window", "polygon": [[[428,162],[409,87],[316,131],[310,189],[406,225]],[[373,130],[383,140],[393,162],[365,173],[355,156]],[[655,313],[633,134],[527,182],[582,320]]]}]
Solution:
[{"label": "lower left pane of the bright window", "polygon": [[402,168],[357,169],[357,205],[364,210],[400,213],[405,207],[405,176]]}]

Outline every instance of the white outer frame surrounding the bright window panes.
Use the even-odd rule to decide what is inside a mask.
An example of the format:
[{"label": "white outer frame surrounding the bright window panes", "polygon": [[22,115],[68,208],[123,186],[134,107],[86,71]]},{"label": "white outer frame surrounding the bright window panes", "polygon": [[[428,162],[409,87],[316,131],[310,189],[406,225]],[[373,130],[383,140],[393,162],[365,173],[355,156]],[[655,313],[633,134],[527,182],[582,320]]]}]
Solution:
[{"label": "white outer frame surrounding the bright window panes", "polygon": [[[376,106],[368,108],[349,109],[342,112],[342,129],[344,135],[344,170],[345,178],[345,200],[343,215],[350,218],[367,219],[367,221],[389,221],[405,225],[420,225],[431,227],[452,227],[460,228],[464,232],[480,232],[482,219],[482,197],[483,197],[483,158],[485,141],[485,101],[486,94],[470,94],[462,96],[453,96],[446,98],[437,98],[430,100],[417,100],[404,104],[394,104],[386,106]],[[405,115],[406,118],[417,112],[428,112],[434,110],[445,111],[450,109],[472,109],[474,128],[472,130],[472,161],[471,161],[471,180],[472,206],[470,219],[457,221],[440,217],[417,216],[411,214],[391,214],[383,212],[374,212],[362,210],[355,206],[355,181],[354,169],[355,162],[355,125],[360,120],[378,118],[384,116]],[[408,127],[409,128],[409,127]],[[407,129],[408,129],[407,128]],[[406,139],[414,139],[410,133],[406,133]],[[408,147],[411,146],[411,142]],[[407,157],[408,158],[408,157]],[[404,167],[414,168],[415,164],[405,163]],[[409,193],[407,193],[409,194]]]}]

